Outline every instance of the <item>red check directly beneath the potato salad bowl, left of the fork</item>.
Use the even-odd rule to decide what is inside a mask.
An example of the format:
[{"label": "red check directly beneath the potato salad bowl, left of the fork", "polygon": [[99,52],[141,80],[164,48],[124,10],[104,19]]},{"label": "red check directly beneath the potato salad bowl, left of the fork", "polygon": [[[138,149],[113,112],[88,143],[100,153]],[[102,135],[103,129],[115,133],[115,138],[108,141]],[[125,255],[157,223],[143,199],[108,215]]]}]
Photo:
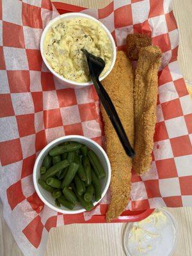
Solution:
[{"label": "red check directly beneath the potato salad bowl, left of the fork", "polygon": [[60,108],[77,104],[76,93],[74,89],[68,88],[68,89],[57,90],[57,95],[58,95]]}]

